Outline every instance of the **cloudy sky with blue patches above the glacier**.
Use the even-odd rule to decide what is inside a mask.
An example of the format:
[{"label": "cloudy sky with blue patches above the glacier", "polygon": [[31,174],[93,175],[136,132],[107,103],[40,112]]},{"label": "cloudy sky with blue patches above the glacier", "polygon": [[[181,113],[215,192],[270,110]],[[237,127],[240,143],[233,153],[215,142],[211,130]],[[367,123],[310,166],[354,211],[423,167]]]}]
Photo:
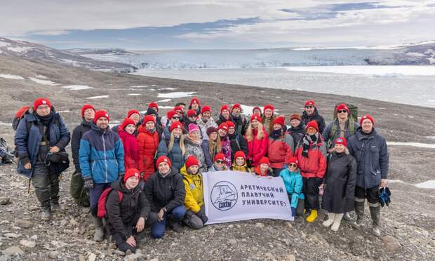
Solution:
[{"label": "cloudy sky with blue patches above the glacier", "polygon": [[346,47],[435,40],[435,0],[14,0],[0,36],[55,48]]}]

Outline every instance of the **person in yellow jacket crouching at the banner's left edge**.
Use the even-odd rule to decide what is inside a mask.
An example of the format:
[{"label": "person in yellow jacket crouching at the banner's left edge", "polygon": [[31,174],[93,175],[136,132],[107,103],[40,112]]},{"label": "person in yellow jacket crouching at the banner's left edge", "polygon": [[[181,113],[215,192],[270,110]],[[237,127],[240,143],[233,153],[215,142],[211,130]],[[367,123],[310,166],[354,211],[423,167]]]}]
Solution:
[{"label": "person in yellow jacket crouching at the banner's left edge", "polygon": [[199,173],[199,161],[195,156],[189,156],[185,166],[180,170],[185,183],[187,209],[182,221],[193,229],[200,229],[208,221],[204,208],[202,174]]}]

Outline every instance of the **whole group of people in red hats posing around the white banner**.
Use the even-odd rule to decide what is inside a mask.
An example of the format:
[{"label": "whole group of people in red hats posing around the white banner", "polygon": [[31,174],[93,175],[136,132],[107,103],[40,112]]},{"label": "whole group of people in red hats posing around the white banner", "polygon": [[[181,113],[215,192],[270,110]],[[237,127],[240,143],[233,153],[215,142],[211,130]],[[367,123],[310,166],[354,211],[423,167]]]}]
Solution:
[{"label": "whole group of people in red hats posing around the white banner", "polygon": [[[145,116],[131,109],[109,128],[107,111],[83,105],[82,121],[72,132],[72,158],[74,174],[88,190],[95,241],[107,231],[119,249],[134,252],[135,235],[145,227],[153,238],[166,227],[200,229],[208,221],[202,175],[222,170],[281,177],[292,215],[314,222],[321,207],[328,214],[323,226],[333,231],[343,217],[352,219],[353,210],[352,226],[361,227],[367,199],[373,234],[380,235],[377,192],[386,186],[389,156],[372,116],[358,123],[343,103],[326,126],[314,100],[305,102],[302,115],[290,115],[290,126],[272,105],[254,107],[249,116],[240,104],[222,105],[216,121],[212,113],[198,98],[179,102],[164,116],[151,102]],[[69,141],[62,117],[46,98],[34,101],[15,133],[18,172],[31,179],[43,220],[61,209],[59,175],[65,168],[55,155]]]}]

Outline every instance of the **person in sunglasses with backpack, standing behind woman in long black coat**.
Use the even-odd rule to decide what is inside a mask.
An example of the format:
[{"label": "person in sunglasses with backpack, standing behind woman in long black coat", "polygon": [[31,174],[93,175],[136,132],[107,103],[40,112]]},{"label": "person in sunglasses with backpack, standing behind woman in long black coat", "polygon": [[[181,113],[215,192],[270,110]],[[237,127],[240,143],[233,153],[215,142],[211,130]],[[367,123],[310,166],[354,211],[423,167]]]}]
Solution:
[{"label": "person in sunglasses with backpack, standing behind woman in long black coat", "polygon": [[326,146],[328,147],[328,152],[332,151],[334,147],[334,140],[339,137],[349,138],[355,134],[356,129],[359,124],[354,121],[352,117],[349,117],[350,111],[349,107],[344,103],[337,106],[337,118],[326,126],[325,131],[323,131],[323,138],[326,141]]}]

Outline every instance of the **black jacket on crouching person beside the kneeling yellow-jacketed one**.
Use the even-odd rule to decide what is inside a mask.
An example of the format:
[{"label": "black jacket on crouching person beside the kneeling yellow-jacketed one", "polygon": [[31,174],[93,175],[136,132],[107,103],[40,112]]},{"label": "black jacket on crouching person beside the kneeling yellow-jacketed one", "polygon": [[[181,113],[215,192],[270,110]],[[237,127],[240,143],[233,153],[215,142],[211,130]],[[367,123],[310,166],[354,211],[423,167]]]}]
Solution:
[{"label": "black jacket on crouching person beside the kneeling yellow-jacketed one", "polygon": [[182,175],[176,168],[163,178],[157,170],[145,182],[145,196],[151,205],[152,212],[159,213],[161,208],[169,212],[185,202],[186,189],[182,182]]}]

